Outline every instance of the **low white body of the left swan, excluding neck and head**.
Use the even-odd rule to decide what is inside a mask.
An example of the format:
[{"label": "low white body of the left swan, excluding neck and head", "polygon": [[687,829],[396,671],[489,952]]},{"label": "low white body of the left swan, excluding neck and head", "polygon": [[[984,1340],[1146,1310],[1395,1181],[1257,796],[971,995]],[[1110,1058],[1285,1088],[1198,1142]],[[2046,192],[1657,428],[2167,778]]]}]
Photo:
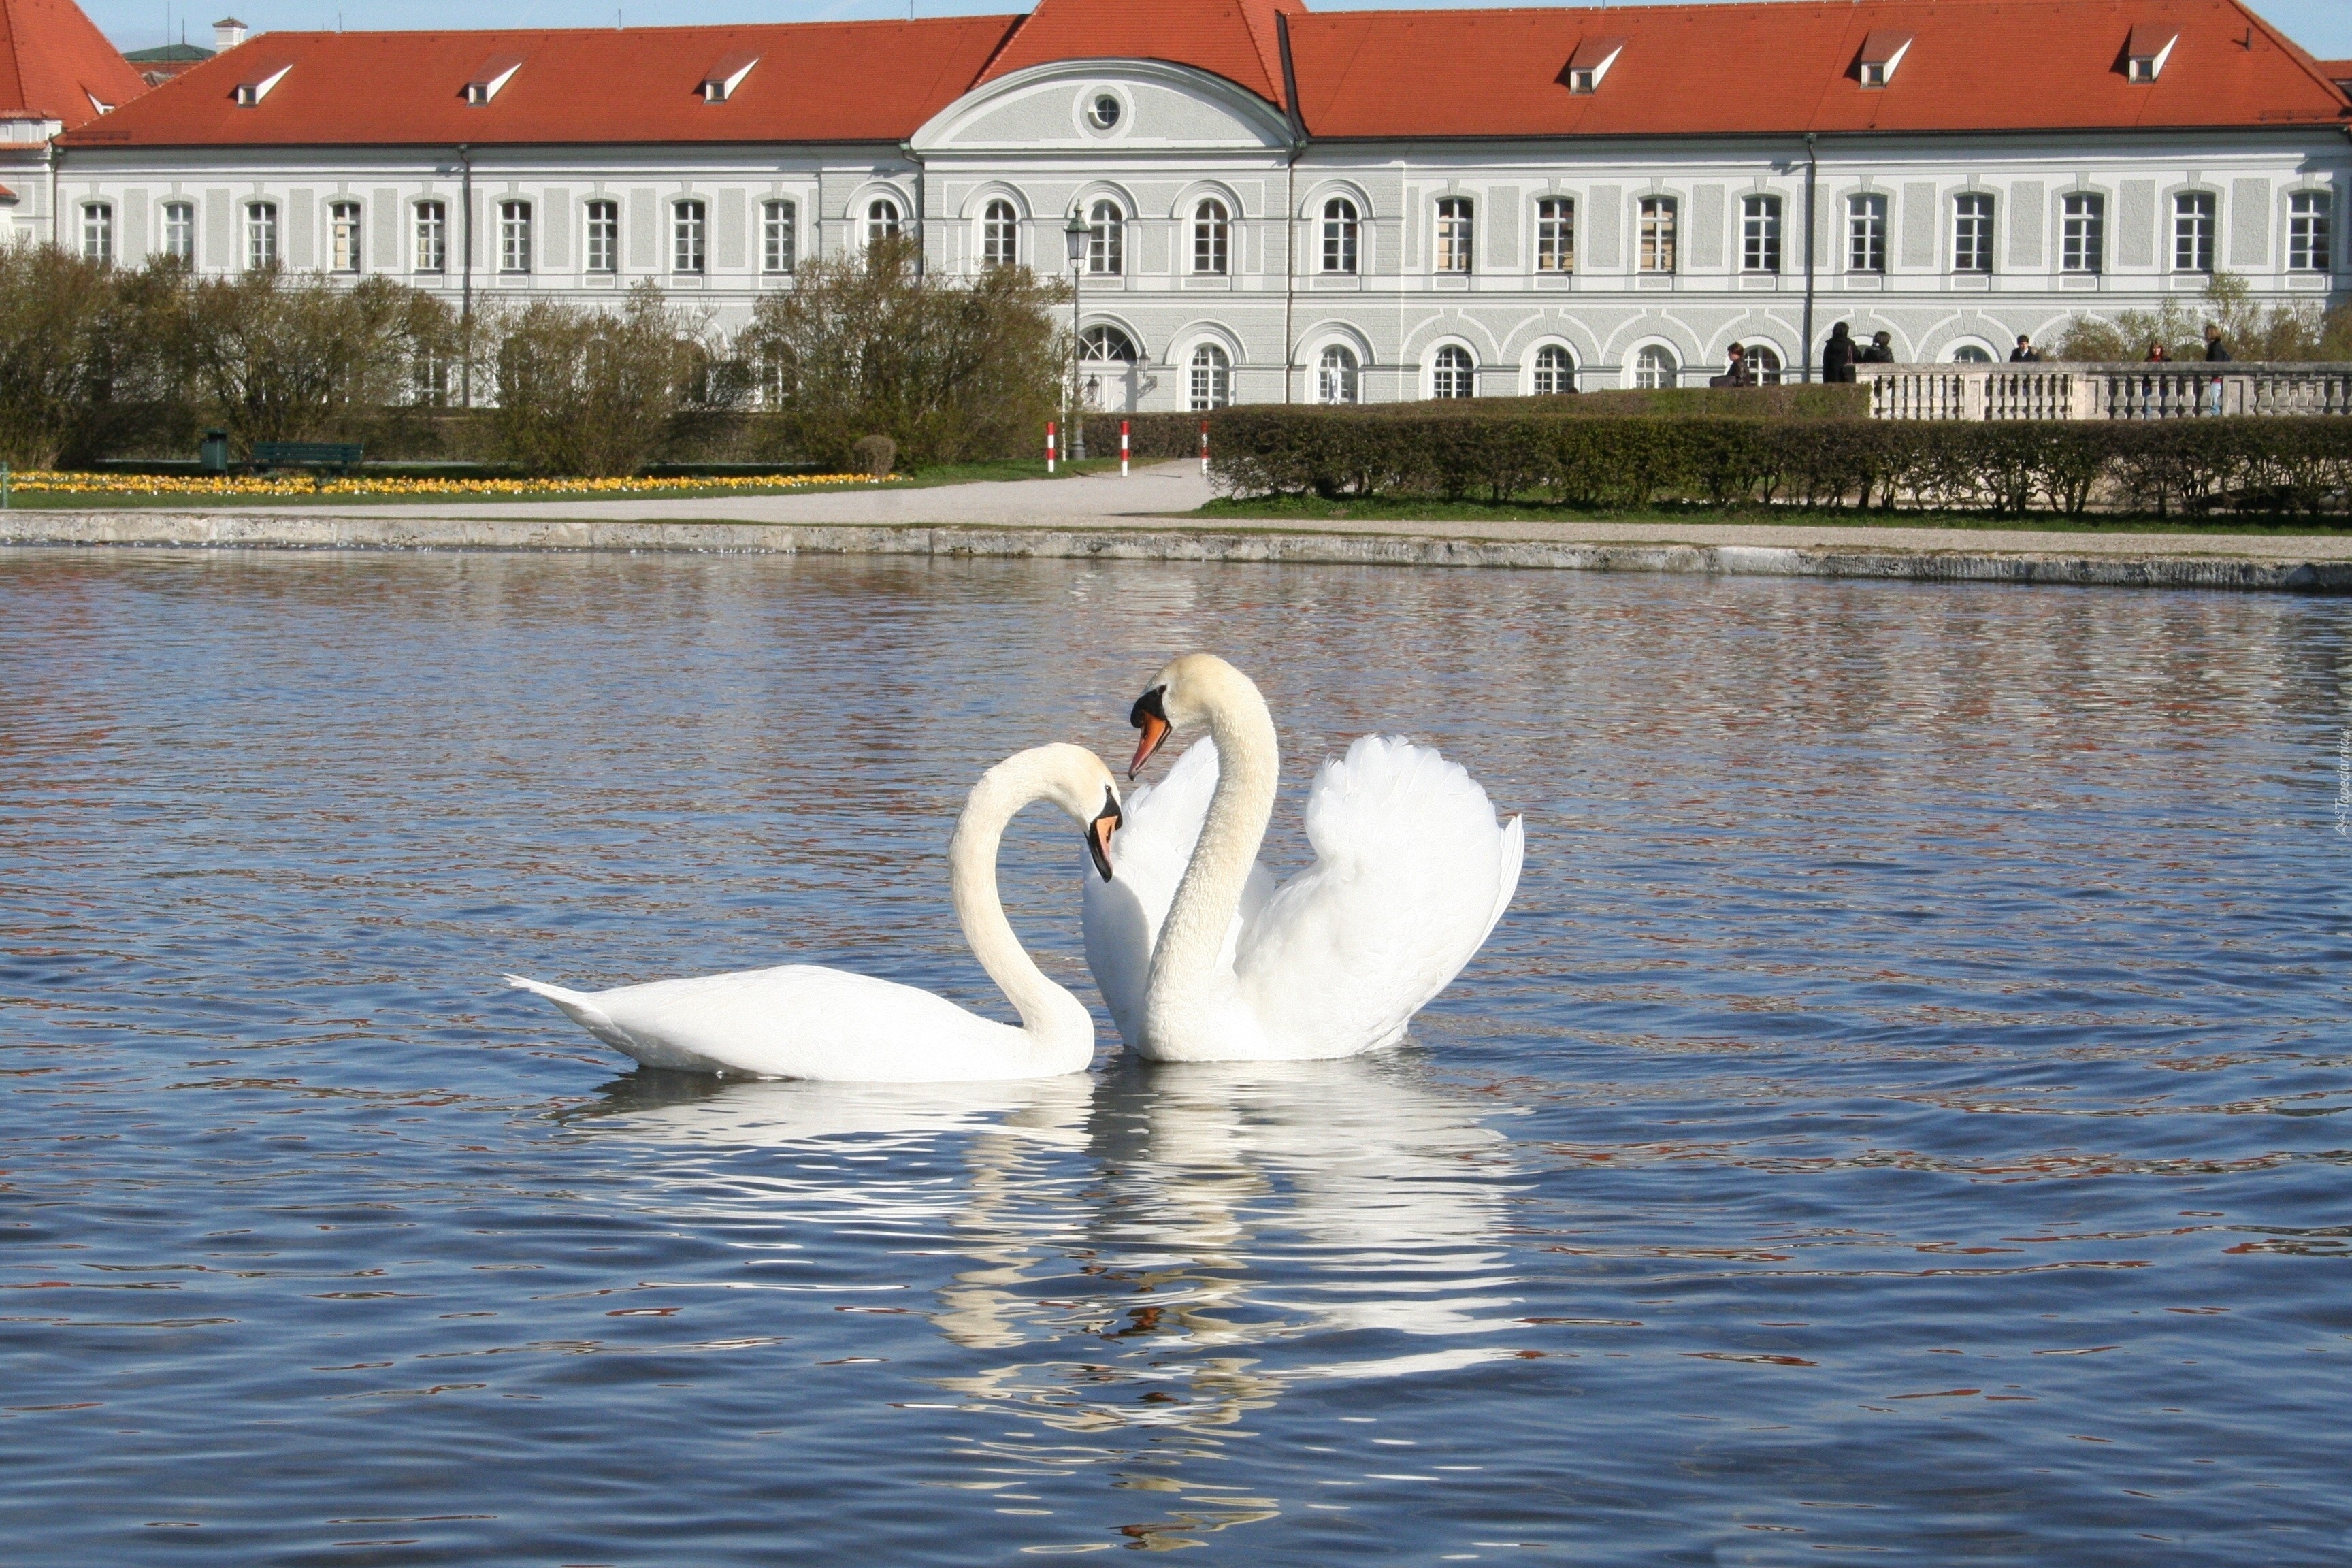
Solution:
[{"label": "low white body of the left swan, excluding neck and head", "polygon": [[520,980],[647,1067],[917,1084],[1037,1074],[1021,1030],[913,985],[816,964],[567,992]]}]

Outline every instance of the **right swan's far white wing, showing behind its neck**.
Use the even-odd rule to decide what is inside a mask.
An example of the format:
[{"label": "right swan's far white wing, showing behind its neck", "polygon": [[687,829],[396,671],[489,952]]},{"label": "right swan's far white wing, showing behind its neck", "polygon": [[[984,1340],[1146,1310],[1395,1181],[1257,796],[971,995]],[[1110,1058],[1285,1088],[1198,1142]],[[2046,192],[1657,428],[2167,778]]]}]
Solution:
[{"label": "right swan's far white wing, showing behind its neck", "polygon": [[[1082,912],[1087,969],[1127,1044],[1143,1039],[1143,983],[1150,978],[1160,922],[1176,900],[1176,884],[1192,860],[1200,825],[1216,795],[1216,741],[1197,741],[1157,785],[1136,785],[1122,802],[1120,832],[1110,839],[1112,879],[1084,872]],[[1249,867],[1242,912],[1225,931],[1223,966],[1232,969],[1242,926],[1265,907],[1275,879]]]}]

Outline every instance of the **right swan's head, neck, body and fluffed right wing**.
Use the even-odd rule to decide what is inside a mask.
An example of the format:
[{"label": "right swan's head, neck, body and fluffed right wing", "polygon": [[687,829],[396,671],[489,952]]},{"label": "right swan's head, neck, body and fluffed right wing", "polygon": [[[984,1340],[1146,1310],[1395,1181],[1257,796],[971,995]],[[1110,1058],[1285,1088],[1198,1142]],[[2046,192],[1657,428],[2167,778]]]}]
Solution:
[{"label": "right swan's head, neck, body and fluffed right wing", "polygon": [[1192,860],[1160,926],[1136,1048],[1155,1060],[1303,1060],[1404,1039],[1503,917],[1519,886],[1519,818],[1435,750],[1364,736],[1308,797],[1315,865],[1242,924],[1275,809],[1275,719],[1247,675],[1209,654],[1162,670],[1129,719],[1129,778],[1171,729],[1207,724],[1218,778]]}]

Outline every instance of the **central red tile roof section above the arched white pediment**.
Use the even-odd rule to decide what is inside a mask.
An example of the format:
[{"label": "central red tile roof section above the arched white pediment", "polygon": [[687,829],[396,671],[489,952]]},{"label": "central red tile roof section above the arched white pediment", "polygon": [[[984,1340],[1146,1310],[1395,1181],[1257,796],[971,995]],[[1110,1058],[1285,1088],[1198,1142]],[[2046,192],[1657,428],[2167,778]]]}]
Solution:
[{"label": "central red tile roof section above the arched white pediment", "polygon": [[1162,59],[1282,103],[1275,12],[1305,9],[1303,0],[1037,0],[981,80],[1063,59]]}]

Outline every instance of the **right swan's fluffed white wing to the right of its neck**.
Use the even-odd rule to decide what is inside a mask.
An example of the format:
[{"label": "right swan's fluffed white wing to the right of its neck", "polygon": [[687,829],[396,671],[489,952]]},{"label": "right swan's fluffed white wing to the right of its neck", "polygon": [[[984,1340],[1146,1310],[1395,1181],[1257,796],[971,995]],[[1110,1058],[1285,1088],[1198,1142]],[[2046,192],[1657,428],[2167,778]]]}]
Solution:
[{"label": "right swan's fluffed white wing to the right of its neck", "polygon": [[1519,823],[1435,750],[1364,736],[1322,764],[1305,825],[1315,865],[1244,926],[1240,997],[1282,1056],[1395,1044],[1510,903]]}]

